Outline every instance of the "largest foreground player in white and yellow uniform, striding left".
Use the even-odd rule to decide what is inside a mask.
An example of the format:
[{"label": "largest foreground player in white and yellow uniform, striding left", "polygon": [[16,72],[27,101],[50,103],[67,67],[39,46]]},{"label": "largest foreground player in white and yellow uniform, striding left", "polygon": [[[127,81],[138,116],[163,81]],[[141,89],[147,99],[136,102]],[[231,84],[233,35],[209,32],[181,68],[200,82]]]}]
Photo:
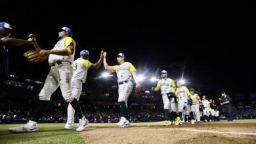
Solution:
[{"label": "largest foreground player in white and yellow uniform, striding left", "polygon": [[43,89],[39,93],[39,104],[35,109],[32,120],[20,127],[10,128],[11,132],[35,132],[38,130],[37,122],[40,115],[47,109],[51,95],[60,86],[62,96],[72,105],[79,118],[79,126],[76,131],[85,130],[88,120],[84,117],[81,107],[72,95],[71,77],[73,75],[72,62],[74,61],[75,41],[72,39],[72,31],[68,27],[62,27],[58,32],[60,39],[52,50],[41,50],[41,54],[49,56],[48,62],[51,70],[47,75]]}]

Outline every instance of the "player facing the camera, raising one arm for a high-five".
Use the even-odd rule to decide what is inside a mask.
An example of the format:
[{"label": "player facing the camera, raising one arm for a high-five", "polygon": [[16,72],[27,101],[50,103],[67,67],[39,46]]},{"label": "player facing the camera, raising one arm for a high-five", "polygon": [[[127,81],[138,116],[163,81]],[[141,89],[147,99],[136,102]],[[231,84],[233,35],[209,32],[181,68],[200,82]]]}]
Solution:
[{"label": "player facing the camera, raising one arm for a high-five", "polygon": [[118,102],[121,108],[121,118],[117,123],[117,126],[126,128],[130,125],[127,100],[133,90],[133,82],[131,82],[132,77],[135,79],[136,87],[140,86],[139,81],[137,80],[137,70],[133,64],[125,62],[125,54],[123,53],[117,54],[116,59],[119,65],[109,66],[106,62],[106,54],[107,52],[104,52],[103,54],[103,64],[105,69],[111,71],[112,73],[116,72],[117,75]]}]

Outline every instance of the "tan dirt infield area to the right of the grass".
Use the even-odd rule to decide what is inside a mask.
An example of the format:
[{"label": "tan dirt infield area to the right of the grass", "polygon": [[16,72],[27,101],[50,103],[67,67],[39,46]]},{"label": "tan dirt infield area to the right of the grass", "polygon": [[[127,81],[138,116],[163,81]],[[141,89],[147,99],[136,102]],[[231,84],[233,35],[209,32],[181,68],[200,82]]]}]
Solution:
[{"label": "tan dirt infield area to the right of the grass", "polygon": [[[223,134],[224,132],[232,134]],[[238,132],[244,132],[244,135]],[[256,143],[256,123],[201,123],[182,126],[133,124],[129,128],[89,124],[89,128],[81,136],[85,143]]]}]

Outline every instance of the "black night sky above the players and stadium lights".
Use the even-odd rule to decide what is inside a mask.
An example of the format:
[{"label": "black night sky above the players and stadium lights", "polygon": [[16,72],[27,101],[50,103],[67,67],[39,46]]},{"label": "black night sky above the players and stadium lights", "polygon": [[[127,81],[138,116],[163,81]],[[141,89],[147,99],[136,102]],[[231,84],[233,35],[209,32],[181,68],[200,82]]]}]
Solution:
[{"label": "black night sky above the players and stadium lights", "polygon": [[[108,52],[108,64],[116,65],[123,52],[138,73],[188,81],[203,94],[255,92],[255,9],[242,2],[119,2],[83,1],[43,3],[9,1],[1,6],[1,21],[12,25],[11,37],[37,35],[43,49],[58,41],[56,28],[67,26],[77,42],[75,58],[87,49],[91,62],[100,50]],[[5,7],[4,7],[5,5]],[[9,48],[10,73],[44,81],[47,62],[27,63],[23,57],[33,46]],[[14,60],[15,59],[15,60]],[[88,80],[103,71],[89,71]]]}]

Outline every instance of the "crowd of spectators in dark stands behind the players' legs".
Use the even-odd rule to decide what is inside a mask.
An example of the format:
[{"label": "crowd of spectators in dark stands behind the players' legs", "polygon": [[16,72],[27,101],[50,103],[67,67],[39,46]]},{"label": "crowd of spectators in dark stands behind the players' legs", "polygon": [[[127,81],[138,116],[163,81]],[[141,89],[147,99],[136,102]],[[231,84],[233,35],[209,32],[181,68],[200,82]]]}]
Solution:
[{"label": "crowd of spectators in dark stands behind the players' legs", "polygon": [[[7,105],[6,105],[7,104]],[[29,120],[32,112],[29,107],[20,107],[19,105],[8,105],[9,103],[1,103],[0,120]],[[54,103],[51,109],[48,109],[40,120],[65,121],[67,118],[66,105]],[[87,105],[83,107],[85,116],[89,121],[118,121],[120,117],[118,105],[96,106]],[[131,122],[150,122],[164,120],[162,107],[131,107]],[[251,119],[256,118],[255,106],[238,106],[233,107],[233,115],[235,119]],[[221,114],[221,119],[225,117]]]}]

